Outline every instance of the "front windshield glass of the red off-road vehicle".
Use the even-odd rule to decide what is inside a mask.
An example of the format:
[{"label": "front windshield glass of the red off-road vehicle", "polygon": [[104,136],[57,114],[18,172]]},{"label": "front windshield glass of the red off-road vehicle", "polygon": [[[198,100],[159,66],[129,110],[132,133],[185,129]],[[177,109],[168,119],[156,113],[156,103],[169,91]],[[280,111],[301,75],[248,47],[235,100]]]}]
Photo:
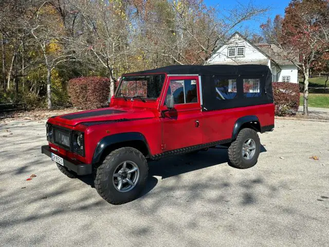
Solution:
[{"label": "front windshield glass of the red off-road vehicle", "polygon": [[156,99],[160,96],[165,75],[123,76],[116,97]]}]

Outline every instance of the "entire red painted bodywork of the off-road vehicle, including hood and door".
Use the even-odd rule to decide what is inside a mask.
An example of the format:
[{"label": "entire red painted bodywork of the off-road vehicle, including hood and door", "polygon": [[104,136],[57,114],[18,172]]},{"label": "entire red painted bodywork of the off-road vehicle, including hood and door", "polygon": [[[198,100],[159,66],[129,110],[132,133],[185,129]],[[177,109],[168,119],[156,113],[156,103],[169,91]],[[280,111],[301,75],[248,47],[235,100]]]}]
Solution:
[{"label": "entire red painted bodywork of the off-road vehicle, including hood and door", "polygon": [[[175,105],[173,110],[167,111],[161,116],[161,111],[167,110],[167,107],[163,103],[165,102],[169,86],[169,78],[193,79],[198,81],[197,76],[167,76],[160,97],[157,100],[142,102],[140,99],[134,99],[132,101],[130,99],[124,100],[122,98],[112,97],[109,108],[80,113],[104,111],[107,109],[122,112],[71,120],[63,118],[71,114],[49,118],[48,122],[52,125],[84,132],[85,156],[71,153],[52,143],[49,143],[49,146],[57,149],[64,157],[71,160],[78,160],[81,163],[91,164],[97,144],[103,137],[108,135],[139,132],[147,140],[150,154],[153,156],[174,149],[230,139],[232,137],[234,123],[243,116],[257,116],[262,127],[274,125],[273,104],[203,112],[200,106],[199,83],[197,83],[197,103]],[[118,119],[127,120],[104,122]],[[198,121],[198,126],[196,126],[196,121]],[[86,122],[100,123],[92,126],[84,126],[83,123]]]}]

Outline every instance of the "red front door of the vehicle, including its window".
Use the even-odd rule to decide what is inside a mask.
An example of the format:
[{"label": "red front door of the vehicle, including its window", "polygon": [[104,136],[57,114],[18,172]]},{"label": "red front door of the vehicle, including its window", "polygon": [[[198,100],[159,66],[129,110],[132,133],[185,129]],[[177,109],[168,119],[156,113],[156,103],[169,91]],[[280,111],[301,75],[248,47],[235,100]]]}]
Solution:
[{"label": "red front door of the vehicle, including its window", "polygon": [[[202,112],[198,76],[169,76],[161,101],[162,151],[203,143]],[[172,94],[174,107],[168,110],[167,95]]]}]

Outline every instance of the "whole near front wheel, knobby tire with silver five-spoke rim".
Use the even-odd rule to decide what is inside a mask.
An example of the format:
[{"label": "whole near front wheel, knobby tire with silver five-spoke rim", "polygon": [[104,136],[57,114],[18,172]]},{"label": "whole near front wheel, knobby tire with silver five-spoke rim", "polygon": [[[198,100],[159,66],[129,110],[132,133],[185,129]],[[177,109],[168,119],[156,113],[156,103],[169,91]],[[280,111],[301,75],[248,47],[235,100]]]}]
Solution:
[{"label": "whole near front wheel, knobby tire with silver five-spoke rim", "polygon": [[111,204],[122,204],[136,199],[148,178],[148,164],[135,148],[114,150],[97,168],[95,188]]}]

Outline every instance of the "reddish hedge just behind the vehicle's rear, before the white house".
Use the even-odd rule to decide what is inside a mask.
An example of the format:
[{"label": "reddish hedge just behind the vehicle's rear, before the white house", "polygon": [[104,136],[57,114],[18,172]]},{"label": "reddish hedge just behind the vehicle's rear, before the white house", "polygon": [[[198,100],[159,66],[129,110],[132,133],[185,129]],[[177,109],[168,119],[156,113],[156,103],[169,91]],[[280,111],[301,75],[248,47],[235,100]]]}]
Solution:
[{"label": "reddish hedge just behind the vehicle's rear, before the white house", "polygon": [[273,82],[272,88],[276,116],[296,114],[300,100],[299,84]]}]

